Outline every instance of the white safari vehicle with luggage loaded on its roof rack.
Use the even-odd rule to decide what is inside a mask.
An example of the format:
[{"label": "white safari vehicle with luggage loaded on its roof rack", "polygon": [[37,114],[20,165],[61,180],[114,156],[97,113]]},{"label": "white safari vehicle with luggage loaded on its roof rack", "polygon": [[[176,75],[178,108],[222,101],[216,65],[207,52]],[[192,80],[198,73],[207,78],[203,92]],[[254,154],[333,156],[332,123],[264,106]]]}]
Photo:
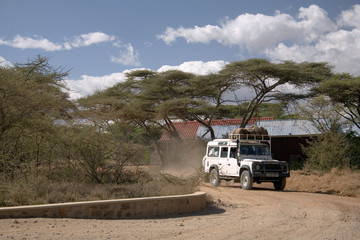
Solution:
[{"label": "white safari vehicle with luggage loaded on its roof rack", "polygon": [[254,182],[272,182],[276,190],[283,190],[290,177],[287,163],[272,159],[266,129],[258,127],[238,128],[229,139],[208,142],[202,164],[213,186],[221,180],[234,180],[248,190]]}]

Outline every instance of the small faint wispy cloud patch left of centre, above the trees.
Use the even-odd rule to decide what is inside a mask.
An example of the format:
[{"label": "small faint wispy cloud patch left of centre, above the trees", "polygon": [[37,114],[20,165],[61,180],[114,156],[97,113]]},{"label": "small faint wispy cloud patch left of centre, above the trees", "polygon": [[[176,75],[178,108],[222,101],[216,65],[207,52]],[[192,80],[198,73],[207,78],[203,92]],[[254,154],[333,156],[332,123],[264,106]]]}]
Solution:
[{"label": "small faint wispy cloud patch left of centre, above the trees", "polygon": [[111,56],[111,62],[121,63],[125,66],[140,66],[139,53],[134,49],[134,47],[129,44],[121,44],[117,42],[114,44],[116,47],[120,48],[119,56]]}]

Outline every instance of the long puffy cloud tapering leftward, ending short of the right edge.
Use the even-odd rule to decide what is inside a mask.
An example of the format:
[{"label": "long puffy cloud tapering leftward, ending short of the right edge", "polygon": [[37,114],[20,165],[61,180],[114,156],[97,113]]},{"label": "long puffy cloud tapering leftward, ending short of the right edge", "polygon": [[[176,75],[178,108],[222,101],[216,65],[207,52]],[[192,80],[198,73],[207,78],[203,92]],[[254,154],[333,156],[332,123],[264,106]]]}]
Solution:
[{"label": "long puffy cloud tapering leftward, ending short of the right edge", "polygon": [[318,35],[334,28],[335,24],[325,11],[311,5],[300,8],[298,19],[279,12],[274,16],[246,13],[235,19],[225,19],[218,26],[169,27],[158,38],[167,44],[178,38],[184,38],[188,43],[209,43],[214,40],[225,46],[237,45],[249,51],[261,51],[284,40],[312,42]]}]

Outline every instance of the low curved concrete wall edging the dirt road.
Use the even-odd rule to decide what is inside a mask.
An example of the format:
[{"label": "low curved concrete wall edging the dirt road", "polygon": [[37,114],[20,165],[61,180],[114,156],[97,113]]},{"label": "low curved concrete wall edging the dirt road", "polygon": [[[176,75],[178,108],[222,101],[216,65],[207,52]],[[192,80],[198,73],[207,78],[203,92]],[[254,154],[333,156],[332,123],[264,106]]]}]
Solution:
[{"label": "low curved concrete wall edging the dirt road", "polygon": [[196,192],[174,196],[3,207],[0,208],[0,218],[151,218],[192,213],[203,209],[205,205],[206,193]]}]

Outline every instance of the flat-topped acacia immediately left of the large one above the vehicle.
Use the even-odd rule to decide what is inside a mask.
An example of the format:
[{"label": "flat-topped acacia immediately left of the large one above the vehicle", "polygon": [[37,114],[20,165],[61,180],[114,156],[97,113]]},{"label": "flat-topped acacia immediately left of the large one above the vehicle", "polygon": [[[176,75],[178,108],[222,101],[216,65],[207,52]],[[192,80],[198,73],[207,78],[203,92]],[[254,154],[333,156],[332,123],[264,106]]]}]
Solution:
[{"label": "flat-topped acacia immediately left of the large one above the vehicle", "polygon": [[[138,78],[139,73],[134,72],[131,77]],[[153,123],[158,124],[161,120],[169,135],[180,141],[173,118],[197,121],[208,129],[211,138],[215,138],[212,120],[219,117],[219,108],[225,102],[223,95],[234,87],[234,83],[219,74],[196,76],[182,71],[167,71],[144,79],[141,87],[137,97],[141,102],[150,104],[146,105],[146,109],[151,109],[151,114],[154,114]]]}]

